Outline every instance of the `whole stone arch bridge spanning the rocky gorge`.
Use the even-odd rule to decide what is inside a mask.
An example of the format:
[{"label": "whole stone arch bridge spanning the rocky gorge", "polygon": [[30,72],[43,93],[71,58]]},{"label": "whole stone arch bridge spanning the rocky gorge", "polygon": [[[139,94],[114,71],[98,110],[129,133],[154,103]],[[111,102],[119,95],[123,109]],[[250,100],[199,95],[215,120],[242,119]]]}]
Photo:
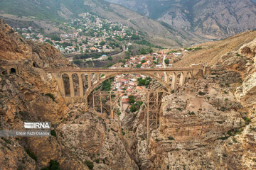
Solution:
[{"label": "whole stone arch bridge spanning the rocky gorge", "polygon": [[[186,78],[196,75],[210,74],[210,67],[164,68],[164,69],[48,69],[46,72],[53,74],[57,81],[60,94],[67,103],[86,102],[90,93],[103,81],[120,74],[142,74],[156,79],[167,91],[176,91],[178,86],[183,86]],[[68,77],[69,94],[65,90],[63,76]],[[78,86],[74,86],[74,75],[78,79]],[[179,78],[179,79],[178,79]],[[78,89],[75,91],[75,89]]]}]

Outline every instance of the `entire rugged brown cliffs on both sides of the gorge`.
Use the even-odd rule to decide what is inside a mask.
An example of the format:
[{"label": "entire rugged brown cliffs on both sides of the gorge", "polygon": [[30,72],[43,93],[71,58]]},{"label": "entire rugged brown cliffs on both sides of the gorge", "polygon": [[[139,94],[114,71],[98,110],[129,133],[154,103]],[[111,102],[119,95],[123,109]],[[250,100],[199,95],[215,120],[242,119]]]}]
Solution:
[{"label": "entire rugged brown cliffs on both sides of the gorge", "polygon": [[[255,169],[255,40],[218,58],[207,77],[162,99],[146,142],[144,110],[113,120],[84,103],[66,104],[44,69],[74,67],[53,47],[23,40],[0,21],[0,128],[50,121],[51,137],[1,137],[1,169]],[[124,133],[125,131],[125,133]]]}]

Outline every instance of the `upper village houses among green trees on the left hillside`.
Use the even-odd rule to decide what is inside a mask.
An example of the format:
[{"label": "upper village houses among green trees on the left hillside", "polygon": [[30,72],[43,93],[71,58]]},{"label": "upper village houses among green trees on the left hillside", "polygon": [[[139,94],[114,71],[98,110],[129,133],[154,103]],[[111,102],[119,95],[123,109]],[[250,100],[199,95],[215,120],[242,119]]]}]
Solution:
[{"label": "upper village houses among green trees on the left hillside", "polygon": [[115,43],[137,35],[120,23],[110,22],[107,19],[94,16],[90,13],[80,14],[79,19],[72,19],[70,23],[63,23],[60,30],[65,30],[60,36],[42,35],[41,30],[28,27],[16,28],[23,38],[38,42],[49,42],[62,53],[81,54],[85,52],[112,52],[122,48]]}]

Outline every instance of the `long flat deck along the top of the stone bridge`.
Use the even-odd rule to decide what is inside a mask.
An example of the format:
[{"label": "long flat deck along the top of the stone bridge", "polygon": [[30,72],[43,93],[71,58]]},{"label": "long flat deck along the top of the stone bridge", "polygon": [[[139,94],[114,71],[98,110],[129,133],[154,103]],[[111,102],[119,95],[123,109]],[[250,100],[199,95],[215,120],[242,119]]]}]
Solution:
[{"label": "long flat deck along the top of the stone bridge", "polygon": [[161,68],[161,69],[46,69],[46,72],[177,72],[203,70],[203,68]]}]

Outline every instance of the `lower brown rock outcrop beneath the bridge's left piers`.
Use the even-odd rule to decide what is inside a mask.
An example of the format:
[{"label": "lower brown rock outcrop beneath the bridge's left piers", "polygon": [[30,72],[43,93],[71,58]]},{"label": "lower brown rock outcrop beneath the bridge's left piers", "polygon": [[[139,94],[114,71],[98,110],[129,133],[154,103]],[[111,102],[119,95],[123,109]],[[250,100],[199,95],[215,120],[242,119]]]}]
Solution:
[{"label": "lower brown rock outcrop beneath the bridge's left piers", "polygon": [[96,162],[95,169],[138,169],[122,143],[119,120],[102,119],[75,108],[82,106],[71,108],[67,121],[57,128],[66,156],[63,169],[77,169],[70,162],[83,164],[85,161]]}]

